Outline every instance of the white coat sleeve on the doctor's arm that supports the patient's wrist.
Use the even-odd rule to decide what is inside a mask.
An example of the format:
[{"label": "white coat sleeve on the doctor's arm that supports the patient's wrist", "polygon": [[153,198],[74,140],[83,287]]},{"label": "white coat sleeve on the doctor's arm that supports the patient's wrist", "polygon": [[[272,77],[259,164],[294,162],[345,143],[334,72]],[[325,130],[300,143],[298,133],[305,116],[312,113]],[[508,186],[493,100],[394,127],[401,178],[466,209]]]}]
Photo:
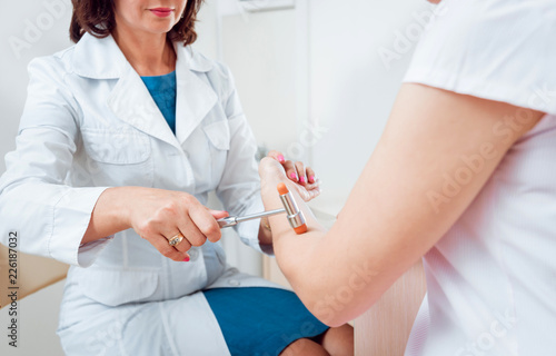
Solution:
[{"label": "white coat sleeve on the doctor's arm that supports the patient's wrist", "polygon": [[[256,160],[257,141],[244,115],[229,69],[228,95],[224,102],[230,127],[230,150],[217,196],[230,215],[245,216],[265,210],[260,196],[260,179]],[[235,228],[241,241],[258,251],[274,255],[271,245],[259,244],[260,220],[238,224]]]}]

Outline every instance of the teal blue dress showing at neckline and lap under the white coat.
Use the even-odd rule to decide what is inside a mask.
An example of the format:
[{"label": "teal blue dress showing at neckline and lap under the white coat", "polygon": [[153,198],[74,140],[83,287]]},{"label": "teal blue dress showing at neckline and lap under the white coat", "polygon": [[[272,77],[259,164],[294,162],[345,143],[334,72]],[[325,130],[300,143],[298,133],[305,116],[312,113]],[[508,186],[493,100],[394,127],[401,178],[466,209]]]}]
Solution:
[{"label": "teal blue dress showing at neckline and lap under the white coat", "polygon": [[[176,72],[141,77],[176,134]],[[317,340],[328,326],[291,291],[268,287],[203,291],[232,356],[275,356],[299,338]]]}]

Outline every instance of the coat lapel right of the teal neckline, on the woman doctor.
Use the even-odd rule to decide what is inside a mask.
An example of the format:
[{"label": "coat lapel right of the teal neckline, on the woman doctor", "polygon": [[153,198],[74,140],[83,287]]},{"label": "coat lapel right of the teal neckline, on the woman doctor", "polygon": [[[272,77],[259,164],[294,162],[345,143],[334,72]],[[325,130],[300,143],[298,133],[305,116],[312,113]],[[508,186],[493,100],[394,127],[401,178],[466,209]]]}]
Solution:
[{"label": "coat lapel right of the teal neckline, on the woman doctor", "polygon": [[[188,139],[217,102],[214,89],[192,68],[195,58],[182,43],[176,43],[176,136],[180,145]],[[197,67],[197,66],[196,66]]]}]

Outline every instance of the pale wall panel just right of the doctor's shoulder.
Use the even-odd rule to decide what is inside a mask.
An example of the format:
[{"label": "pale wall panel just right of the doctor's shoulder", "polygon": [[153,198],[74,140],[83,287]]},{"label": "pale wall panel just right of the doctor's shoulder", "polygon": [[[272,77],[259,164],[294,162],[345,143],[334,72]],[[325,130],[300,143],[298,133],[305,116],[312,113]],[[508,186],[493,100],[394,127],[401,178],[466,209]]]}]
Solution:
[{"label": "pale wall panel just right of the doctor's shoulder", "polygon": [[287,151],[297,138],[295,10],[226,16],[221,26],[222,60],[257,141]]}]

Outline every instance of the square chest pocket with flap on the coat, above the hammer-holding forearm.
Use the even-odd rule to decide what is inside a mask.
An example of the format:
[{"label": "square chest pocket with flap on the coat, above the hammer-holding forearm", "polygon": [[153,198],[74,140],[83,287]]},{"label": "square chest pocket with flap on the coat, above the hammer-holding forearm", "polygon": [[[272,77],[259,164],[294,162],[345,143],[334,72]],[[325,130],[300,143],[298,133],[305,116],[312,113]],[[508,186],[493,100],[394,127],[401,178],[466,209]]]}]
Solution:
[{"label": "square chest pocket with flap on the coat, above the hammer-holding forearm", "polygon": [[86,169],[96,186],[152,186],[150,139],[132,128],[82,128]]}]

